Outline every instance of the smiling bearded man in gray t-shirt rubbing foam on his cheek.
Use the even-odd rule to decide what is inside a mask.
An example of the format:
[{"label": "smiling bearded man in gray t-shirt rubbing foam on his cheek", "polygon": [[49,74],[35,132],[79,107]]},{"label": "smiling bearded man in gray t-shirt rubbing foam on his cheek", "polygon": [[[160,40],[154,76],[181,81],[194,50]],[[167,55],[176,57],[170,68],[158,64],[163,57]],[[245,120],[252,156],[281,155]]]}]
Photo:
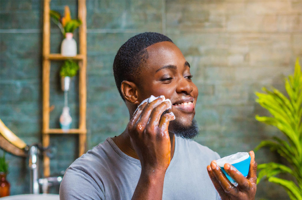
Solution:
[{"label": "smiling bearded man in gray t-shirt rubbing foam on his cheek", "polygon": [[[130,38],[118,50],[113,70],[130,121],[122,134],[72,163],[60,186],[61,200],[255,198],[254,152],[247,178],[225,164],[235,187],[216,165],[216,152],[187,140],[198,134],[198,89],[171,39],[149,32]],[[153,101],[143,102],[150,96]]]}]

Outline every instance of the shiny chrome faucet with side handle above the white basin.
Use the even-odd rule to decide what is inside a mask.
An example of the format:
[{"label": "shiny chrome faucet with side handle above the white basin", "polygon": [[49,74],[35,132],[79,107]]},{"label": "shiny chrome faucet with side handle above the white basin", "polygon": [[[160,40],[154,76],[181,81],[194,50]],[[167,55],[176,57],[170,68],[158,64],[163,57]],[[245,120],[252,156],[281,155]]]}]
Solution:
[{"label": "shiny chrome faucet with side handle above the white basin", "polygon": [[29,168],[31,170],[30,192],[32,194],[40,193],[40,185],[42,192],[47,193],[49,186],[60,184],[62,176],[53,176],[39,179],[39,156],[42,151],[46,149],[41,148],[39,145],[33,145],[29,150]]}]

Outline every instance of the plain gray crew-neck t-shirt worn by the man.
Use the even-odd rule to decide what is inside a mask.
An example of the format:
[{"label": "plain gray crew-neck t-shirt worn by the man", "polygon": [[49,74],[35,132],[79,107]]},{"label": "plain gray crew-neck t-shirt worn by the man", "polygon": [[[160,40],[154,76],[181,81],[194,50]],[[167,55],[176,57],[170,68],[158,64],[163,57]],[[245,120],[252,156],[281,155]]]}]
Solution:
[{"label": "plain gray crew-neck t-shirt worn by the man", "polygon": [[[207,173],[207,165],[219,158],[208,147],[175,137],[162,199],[220,199]],[[140,172],[140,160],[127,156],[108,137],[69,166],[60,186],[60,199],[131,199]]]}]

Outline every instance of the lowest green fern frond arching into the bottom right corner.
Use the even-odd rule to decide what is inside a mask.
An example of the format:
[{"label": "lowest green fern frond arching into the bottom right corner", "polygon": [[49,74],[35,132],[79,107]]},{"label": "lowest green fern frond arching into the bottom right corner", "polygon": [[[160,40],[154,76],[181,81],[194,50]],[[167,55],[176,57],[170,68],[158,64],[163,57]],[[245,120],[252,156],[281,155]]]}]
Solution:
[{"label": "lowest green fern frond arching into the bottom right corner", "polygon": [[302,200],[302,191],[297,187],[294,182],[285,179],[280,179],[274,176],[270,177],[268,181],[281,185],[286,190],[291,199]]}]

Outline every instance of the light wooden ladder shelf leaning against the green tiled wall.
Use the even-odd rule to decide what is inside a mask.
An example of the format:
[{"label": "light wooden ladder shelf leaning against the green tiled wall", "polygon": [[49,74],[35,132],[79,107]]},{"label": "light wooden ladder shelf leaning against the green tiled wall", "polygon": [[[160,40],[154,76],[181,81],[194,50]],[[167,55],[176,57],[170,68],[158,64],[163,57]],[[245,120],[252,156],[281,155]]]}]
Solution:
[{"label": "light wooden ladder shelf leaning against the green tiled wall", "polygon": [[[87,66],[87,40],[86,40],[86,1],[78,0],[78,18],[82,21],[79,27],[79,54],[72,57],[50,53],[50,0],[44,0],[43,10],[43,127],[42,144],[48,147],[50,134],[79,134],[79,156],[85,153],[86,148],[86,66]],[[49,128],[50,114],[50,62],[51,60],[74,59],[79,61],[79,128],[63,131]],[[44,176],[50,176],[50,158],[43,154]]]}]

